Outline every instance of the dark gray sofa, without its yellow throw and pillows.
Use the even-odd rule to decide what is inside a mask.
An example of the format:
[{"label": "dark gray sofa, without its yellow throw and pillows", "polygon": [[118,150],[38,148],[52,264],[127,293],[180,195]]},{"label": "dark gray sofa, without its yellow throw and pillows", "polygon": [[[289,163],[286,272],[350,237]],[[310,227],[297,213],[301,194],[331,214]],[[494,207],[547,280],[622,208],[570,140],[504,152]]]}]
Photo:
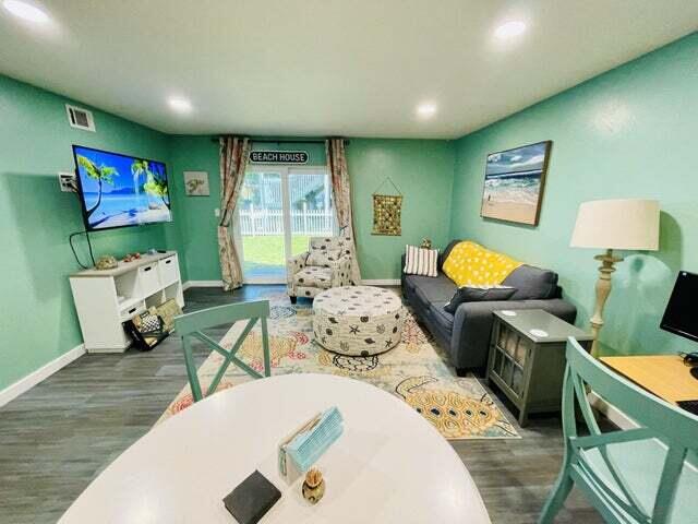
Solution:
[{"label": "dark gray sofa, without its yellow throw and pillows", "polygon": [[[450,356],[459,376],[468,370],[484,370],[488,362],[492,311],[501,309],[543,309],[561,319],[574,323],[577,308],[562,299],[557,274],[522,265],[516,269],[502,284],[516,287],[509,300],[492,302],[466,302],[458,306],[456,314],[444,310],[457,289],[456,284],[442,273],[442,266],[453,247],[453,240],[438,257],[438,276],[406,275],[402,272],[402,296],[411,306],[418,320],[441,343]],[[401,269],[405,267],[402,255]]]}]

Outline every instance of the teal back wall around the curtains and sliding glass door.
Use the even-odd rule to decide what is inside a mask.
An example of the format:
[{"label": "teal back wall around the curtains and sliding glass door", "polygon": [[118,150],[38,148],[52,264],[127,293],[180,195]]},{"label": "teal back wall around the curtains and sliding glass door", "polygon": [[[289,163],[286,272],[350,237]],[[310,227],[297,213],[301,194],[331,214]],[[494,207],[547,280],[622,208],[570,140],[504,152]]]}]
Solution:
[{"label": "teal back wall around the curtains and sliding glass door", "polygon": [[[266,140],[266,139],[265,139]],[[257,143],[255,150],[308,151],[310,165],[325,165],[323,144]],[[215,235],[220,205],[218,145],[208,136],[172,136],[171,164],[181,211],[185,264],[192,281],[220,279]],[[453,144],[440,140],[351,139],[347,164],[352,179],[357,243],[363,278],[399,278],[399,260],[405,243],[430,237],[437,246],[446,242],[450,216],[454,166]],[[210,196],[182,196],[183,171],[208,171]],[[371,194],[389,176],[405,195],[402,236],[372,236]],[[429,183],[424,183],[429,180]],[[394,192],[389,184],[382,188]]]}]

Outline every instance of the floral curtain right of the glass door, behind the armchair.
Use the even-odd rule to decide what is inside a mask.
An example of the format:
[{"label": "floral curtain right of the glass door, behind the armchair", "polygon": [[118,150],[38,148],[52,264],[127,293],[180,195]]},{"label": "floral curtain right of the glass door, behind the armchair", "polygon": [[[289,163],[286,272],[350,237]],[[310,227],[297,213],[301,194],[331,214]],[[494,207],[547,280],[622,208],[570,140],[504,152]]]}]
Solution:
[{"label": "floral curtain right of the glass door, behind the armchair", "polygon": [[332,176],[332,194],[337,210],[339,234],[351,243],[351,283],[361,284],[361,270],[357,257],[357,242],[353,235],[353,218],[351,214],[351,184],[347,169],[347,156],[345,154],[345,141],[342,139],[329,139],[325,141],[327,152],[327,167]]}]

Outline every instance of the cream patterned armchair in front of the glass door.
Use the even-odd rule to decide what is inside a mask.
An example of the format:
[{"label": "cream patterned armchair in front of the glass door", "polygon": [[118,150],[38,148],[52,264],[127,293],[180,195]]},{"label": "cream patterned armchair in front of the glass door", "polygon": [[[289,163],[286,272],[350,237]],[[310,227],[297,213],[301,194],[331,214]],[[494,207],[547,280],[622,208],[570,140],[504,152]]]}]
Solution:
[{"label": "cream patterned armchair in front of the glass door", "polygon": [[351,285],[352,242],[345,237],[311,237],[308,251],[286,262],[291,303],[330,287]]}]

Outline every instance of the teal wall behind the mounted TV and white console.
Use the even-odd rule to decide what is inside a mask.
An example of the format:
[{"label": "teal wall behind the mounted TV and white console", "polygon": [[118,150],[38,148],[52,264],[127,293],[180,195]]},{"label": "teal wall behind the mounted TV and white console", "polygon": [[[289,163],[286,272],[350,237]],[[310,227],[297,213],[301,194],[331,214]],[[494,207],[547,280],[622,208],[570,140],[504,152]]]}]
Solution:
[{"label": "teal wall behind the mounted TV and white console", "polygon": [[[169,156],[166,135],[98,110],[96,133],[72,129],[67,102],[0,75],[0,390],[82,342],[68,282],[80,267],[68,236],[83,223],[75,194],[60,192],[57,175],[74,168],[71,144]],[[92,238],[95,255],[179,246],[173,224]],[[84,240],[77,243],[86,260]]]}]

